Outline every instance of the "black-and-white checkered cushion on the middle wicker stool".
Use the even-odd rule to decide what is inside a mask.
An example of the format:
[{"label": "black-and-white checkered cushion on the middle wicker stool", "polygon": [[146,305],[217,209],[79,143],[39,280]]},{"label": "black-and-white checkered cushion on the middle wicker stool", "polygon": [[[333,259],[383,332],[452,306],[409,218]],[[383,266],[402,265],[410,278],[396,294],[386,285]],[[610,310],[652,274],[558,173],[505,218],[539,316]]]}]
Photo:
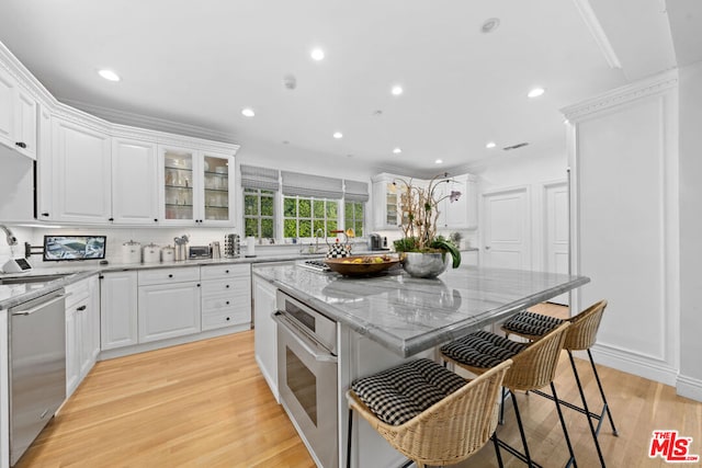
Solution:
[{"label": "black-and-white checkered cushion on the middle wicker stool", "polygon": [[441,352],[453,361],[471,367],[490,368],[509,359],[524,347],[524,343],[480,330],[444,344]]}]

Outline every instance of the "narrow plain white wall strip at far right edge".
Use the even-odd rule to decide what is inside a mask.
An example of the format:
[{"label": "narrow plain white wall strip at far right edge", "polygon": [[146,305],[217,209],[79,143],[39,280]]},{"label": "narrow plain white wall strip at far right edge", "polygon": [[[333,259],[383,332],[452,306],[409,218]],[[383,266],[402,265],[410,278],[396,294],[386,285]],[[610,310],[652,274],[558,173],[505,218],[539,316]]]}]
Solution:
[{"label": "narrow plain white wall strip at far right edge", "polygon": [[702,401],[702,62],[680,69],[680,375],[678,392]]}]

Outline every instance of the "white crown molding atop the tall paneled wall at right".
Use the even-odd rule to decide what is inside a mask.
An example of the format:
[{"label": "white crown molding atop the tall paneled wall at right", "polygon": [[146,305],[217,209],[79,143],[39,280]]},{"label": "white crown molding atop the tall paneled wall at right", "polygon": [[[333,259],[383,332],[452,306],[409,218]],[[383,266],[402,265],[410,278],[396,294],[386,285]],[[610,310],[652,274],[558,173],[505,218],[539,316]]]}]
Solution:
[{"label": "white crown molding atop the tall paneled wall at right", "polygon": [[678,70],[669,70],[654,77],[608,91],[599,96],[588,99],[578,104],[563,107],[561,112],[570,122],[586,119],[600,112],[622,104],[637,101],[655,94],[664,93],[678,87]]}]

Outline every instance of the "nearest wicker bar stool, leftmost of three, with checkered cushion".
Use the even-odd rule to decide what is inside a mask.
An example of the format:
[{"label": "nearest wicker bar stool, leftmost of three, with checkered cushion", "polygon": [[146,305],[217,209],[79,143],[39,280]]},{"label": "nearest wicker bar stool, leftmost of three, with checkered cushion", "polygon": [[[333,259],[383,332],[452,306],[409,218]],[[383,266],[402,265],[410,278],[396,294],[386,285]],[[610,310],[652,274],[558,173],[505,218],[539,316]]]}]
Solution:
[{"label": "nearest wicker bar stool, leftmost of three, with checkered cushion", "polygon": [[454,465],[494,437],[502,379],[512,364],[466,380],[430,359],[416,359],[355,380],[347,392],[351,466],[353,410],[417,467]]}]

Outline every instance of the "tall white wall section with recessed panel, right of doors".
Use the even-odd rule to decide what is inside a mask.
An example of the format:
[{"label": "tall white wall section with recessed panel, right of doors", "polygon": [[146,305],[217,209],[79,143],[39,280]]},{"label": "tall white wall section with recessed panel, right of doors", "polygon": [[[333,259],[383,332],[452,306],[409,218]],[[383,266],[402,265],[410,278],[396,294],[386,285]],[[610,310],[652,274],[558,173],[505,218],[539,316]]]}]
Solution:
[{"label": "tall white wall section with recessed panel, right of doors", "polygon": [[609,306],[598,362],[668,385],[679,369],[677,75],[565,110],[571,123],[571,261]]}]

